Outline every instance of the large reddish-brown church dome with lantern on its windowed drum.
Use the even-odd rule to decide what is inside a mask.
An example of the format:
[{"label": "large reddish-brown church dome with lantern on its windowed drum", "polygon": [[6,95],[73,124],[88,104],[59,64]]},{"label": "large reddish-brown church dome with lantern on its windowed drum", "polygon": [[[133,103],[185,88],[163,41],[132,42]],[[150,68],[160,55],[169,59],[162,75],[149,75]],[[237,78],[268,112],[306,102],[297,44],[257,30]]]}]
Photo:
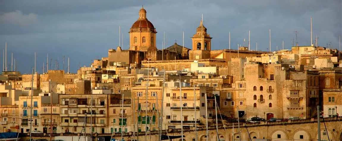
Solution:
[{"label": "large reddish-brown church dome with lantern on its windowed drum", "polygon": [[139,11],[139,18],[132,25],[130,35],[130,48],[133,51],[151,51],[157,50],[156,47],[156,29],[153,24],[147,20],[146,10],[142,7]]}]

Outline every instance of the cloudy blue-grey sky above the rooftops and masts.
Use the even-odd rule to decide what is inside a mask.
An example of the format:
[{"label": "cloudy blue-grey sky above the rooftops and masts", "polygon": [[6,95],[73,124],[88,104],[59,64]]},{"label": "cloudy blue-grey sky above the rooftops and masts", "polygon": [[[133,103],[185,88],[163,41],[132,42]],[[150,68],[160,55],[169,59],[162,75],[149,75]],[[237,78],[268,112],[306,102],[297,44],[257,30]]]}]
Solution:
[{"label": "cloudy blue-grey sky above the rooftops and masts", "polygon": [[52,59],[52,69],[56,68],[56,62],[63,69],[65,56],[64,69],[70,58],[70,72],[76,73],[79,66],[89,66],[93,59],[107,57],[108,49],[119,45],[119,26],[123,33],[122,49],[129,48],[128,32],[139,17],[142,5],[158,32],[158,49],[162,48],[163,32],[168,47],[175,41],[182,44],[183,31],[184,46],[192,48],[190,37],[195,34],[202,14],[203,24],[213,37],[212,50],[229,48],[228,32],[231,32],[232,49],[237,49],[238,44],[247,46],[249,30],[251,50],[256,49],[256,43],[258,50],[269,50],[269,29],[272,51],[276,46],[280,50],[283,40],[284,49],[291,48],[293,39],[300,46],[310,45],[310,17],[313,40],[317,35],[318,45],[339,48],[341,1],[1,0],[0,48],[4,49],[5,42],[8,43],[8,70],[11,70],[13,53],[16,70],[32,72],[36,52],[39,73],[46,64],[47,54]]}]

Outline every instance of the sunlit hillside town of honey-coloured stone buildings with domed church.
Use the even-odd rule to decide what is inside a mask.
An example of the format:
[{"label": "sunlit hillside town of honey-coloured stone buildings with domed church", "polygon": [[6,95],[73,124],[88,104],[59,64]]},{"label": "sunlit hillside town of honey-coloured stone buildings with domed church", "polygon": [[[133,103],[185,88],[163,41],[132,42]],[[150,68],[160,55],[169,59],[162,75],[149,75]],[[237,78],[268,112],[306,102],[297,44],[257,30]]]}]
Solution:
[{"label": "sunlit hillside town of honey-coloured stone buildings with domed church", "polygon": [[48,58],[32,74],[3,65],[0,132],[37,131],[47,139],[145,141],[162,133],[193,141],[313,141],[320,116],[328,125],[320,126],[320,137],[341,140],[340,50],[318,46],[317,39],[290,50],[212,50],[203,20],[185,37],[192,46],[158,49],[146,13],[141,8],[129,30],[128,50],[109,48],[108,56],[77,73],[52,69]]}]

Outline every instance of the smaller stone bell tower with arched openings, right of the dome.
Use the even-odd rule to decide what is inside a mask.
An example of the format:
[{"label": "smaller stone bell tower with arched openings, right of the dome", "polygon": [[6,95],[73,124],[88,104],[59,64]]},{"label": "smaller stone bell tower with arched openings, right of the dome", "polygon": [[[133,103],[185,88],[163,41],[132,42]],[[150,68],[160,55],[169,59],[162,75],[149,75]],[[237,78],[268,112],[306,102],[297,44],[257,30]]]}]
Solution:
[{"label": "smaller stone bell tower with arched openings, right of the dome", "polygon": [[193,50],[211,50],[211,37],[207,33],[207,28],[203,25],[202,20],[196,29],[196,34],[192,38]]}]

